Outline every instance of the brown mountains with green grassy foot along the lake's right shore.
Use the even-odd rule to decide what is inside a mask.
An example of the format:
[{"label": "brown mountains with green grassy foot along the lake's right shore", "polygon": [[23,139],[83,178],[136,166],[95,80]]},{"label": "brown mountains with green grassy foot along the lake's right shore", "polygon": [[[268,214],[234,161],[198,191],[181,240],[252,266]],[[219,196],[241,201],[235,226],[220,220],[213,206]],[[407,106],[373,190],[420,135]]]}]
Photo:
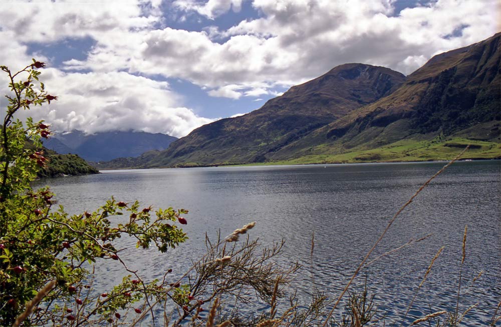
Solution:
[{"label": "brown mountains with green grassy foot along the lake's right shore", "polygon": [[435,55],[408,76],[337,66],[123,167],[450,159],[466,144],[465,158],[501,157],[500,38]]}]

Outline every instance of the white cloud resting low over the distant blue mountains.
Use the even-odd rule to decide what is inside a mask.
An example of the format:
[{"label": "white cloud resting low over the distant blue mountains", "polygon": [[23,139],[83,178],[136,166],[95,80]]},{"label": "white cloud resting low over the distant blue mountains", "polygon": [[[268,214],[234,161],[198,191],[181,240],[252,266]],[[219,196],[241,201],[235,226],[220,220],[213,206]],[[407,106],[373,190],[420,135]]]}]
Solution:
[{"label": "white cloud resting low over the distant blue mountains", "polygon": [[44,119],[56,131],[143,130],[180,137],[213,119],[177,106],[179,95],[167,82],[126,72],[65,73],[44,69],[42,80],[59,100],[22,115]]}]

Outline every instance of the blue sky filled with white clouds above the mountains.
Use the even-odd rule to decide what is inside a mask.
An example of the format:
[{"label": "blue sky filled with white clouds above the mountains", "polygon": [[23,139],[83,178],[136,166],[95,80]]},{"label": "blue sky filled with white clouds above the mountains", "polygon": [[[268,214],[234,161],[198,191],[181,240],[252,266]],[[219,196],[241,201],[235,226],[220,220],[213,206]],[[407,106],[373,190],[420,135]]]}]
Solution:
[{"label": "blue sky filled with white clouds above the mountains", "polygon": [[59,100],[20,118],[182,137],[339,64],[407,75],[500,16],[498,0],[0,0],[0,64],[47,62]]}]

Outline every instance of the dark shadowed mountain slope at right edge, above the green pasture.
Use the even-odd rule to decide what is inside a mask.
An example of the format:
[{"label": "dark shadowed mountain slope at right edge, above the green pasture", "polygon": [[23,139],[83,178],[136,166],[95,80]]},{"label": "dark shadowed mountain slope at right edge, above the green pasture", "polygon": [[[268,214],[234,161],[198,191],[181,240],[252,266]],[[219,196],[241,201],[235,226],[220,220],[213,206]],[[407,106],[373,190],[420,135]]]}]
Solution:
[{"label": "dark shadowed mountain slope at right edge, above the green pasture", "polygon": [[[402,139],[499,142],[501,33],[431,58],[396,91],[269,156],[284,160],[367,150]],[[380,158],[385,159],[385,158]]]}]

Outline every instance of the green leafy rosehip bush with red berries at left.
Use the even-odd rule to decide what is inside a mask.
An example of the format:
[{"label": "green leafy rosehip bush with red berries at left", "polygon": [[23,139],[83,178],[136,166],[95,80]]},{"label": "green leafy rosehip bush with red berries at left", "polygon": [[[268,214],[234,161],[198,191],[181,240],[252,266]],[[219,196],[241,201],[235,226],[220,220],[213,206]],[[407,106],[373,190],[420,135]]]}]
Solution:
[{"label": "green leafy rosehip bush with red berries at left", "polygon": [[[129,235],[136,247],[156,246],[161,252],[175,247],[186,234],[173,222],[186,223],[181,214],[187,210],[141,208],[113,197],[94,212],[68,214],[55,205],[49,188],[30,186],[40,168],[57,156],[46,156],[41,137],[49,137],[49,126],[31,118],[25,123],[15,119],[16,112],[57,100],[39,81],[45,63],[33,60],[18,72],[6,66],[11,93],[0,134],[0,325],[12,325],[29,308],[35,295],[41,297],[35,313],[27,310],[25,325],[95,325],[118,320],[118,312],[131,308],[141,299],[165,296],[165,280],[145,282],[140,272],[130,270],[120,257],[116,240]],[[33,146],[26,146],[32,142]],[[79,163],[74,161],[74,169]],[[127,214],[126,223],[113,217]],[[127,276],[102,294],[89,284],[92,264],[116,261]],[[51,283],[55,281],[55,283]],[[40,294],[44,285],[44,294]],[[32,303],[33,304],[33,303]],[[141,312],[136,307],[135,312]]]}]

